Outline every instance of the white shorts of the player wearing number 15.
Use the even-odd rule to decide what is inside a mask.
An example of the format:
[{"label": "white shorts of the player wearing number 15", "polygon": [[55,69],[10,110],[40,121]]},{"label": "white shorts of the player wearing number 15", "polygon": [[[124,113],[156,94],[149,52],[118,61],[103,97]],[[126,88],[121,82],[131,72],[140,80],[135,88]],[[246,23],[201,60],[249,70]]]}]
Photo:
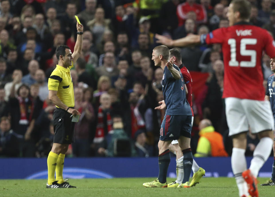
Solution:
[{"label": "white shorts of the player wearing number 15", "polygon": [[274,130],[274,118],[269,101],[229,97],[225,99],[229,136],[251,130],[259,133]]}]

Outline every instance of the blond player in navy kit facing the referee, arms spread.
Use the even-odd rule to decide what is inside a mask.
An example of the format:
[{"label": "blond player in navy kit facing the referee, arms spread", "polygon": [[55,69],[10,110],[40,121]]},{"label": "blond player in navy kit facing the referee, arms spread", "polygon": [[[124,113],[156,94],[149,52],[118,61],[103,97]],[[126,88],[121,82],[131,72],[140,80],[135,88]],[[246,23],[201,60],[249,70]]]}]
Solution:
[{"label": "blond player in navy kit facing the referee, arms spread", "polygon": [[159,176],[156,180],[144,183],[145,187],[167,187],[166,176],[170,163],[169,144],[178,139],[184,159],[184,179],[178,187],[190,187],[189,178],[193,163],[190,148],[192,112],[186,100],[184,80],[180,69],[174,65],[173,58],[169,60],[170,52],[166,46],[157,46],[153,49],[152,60],[155,66],[163,69],[163,96],[164,101],[155,109],[164,109],[166,113],[161,123],[159,137]]}]

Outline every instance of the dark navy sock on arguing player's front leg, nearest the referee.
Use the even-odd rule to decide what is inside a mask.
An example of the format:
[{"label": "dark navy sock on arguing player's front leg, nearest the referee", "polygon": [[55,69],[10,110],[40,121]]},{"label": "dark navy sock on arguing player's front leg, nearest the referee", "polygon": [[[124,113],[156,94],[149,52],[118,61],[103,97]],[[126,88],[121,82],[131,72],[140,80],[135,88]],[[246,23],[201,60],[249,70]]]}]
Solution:
[{"label": "dark navy sock on arguing player's front leg, nearest the referee", "polygon": [[170,151],[165,150],[163,153],[159,154],[159,176],[158,180],[160,183],[166,182],[167,170],[170,163]]}]

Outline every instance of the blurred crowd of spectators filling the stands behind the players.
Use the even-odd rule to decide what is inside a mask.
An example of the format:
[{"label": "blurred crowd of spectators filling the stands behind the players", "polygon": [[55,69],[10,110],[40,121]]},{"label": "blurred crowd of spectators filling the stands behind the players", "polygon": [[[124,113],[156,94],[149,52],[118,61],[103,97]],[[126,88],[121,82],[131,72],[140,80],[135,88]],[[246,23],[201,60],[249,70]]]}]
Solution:
[{"label": "blurred crowd of spectators filling the stands behind the players", "polygon": [[[165,110],[163,70],[151,61],[155,34],[178,39],[228,27],[229,0],[1,0],[0,157],[46,157],[53,140],[48,77],[56,47],[73,52],[75,15],[84,26],[81,57],[71,70],[75,109],[81,112],[67,156],[157,156]],[[250,0],[251,23],[275,35],[271,0]],[[231,154],[223,92],[221,46],[179,49],[193,78],[191,148],[196,153],[199,123],[209,119]],[[264,78],[272,74],[263,57]],[[266,84],[264,84],[266,85]],[[263,95],[264,97],[264,95]],[[248,135],[247,155],[258,143]],[[211,153],[207,156],[213,156]]]}]

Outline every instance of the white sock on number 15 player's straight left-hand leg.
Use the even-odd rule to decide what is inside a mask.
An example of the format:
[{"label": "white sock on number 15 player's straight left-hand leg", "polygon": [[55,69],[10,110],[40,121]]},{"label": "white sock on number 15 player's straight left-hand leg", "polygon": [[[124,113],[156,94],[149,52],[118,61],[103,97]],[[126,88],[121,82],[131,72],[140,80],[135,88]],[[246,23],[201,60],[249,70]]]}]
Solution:
[{"label": "white sock on number 15 player's straight left-hand leg", "polygon": [[243,194],[248,196],[248,187],[245,180],[242,177],[243,171],[247,170],[247,164],[245,159],[245,149],[233,148],[231,156],[232,171],[236,179],[236,183],[239,189],[239,196]]}]

